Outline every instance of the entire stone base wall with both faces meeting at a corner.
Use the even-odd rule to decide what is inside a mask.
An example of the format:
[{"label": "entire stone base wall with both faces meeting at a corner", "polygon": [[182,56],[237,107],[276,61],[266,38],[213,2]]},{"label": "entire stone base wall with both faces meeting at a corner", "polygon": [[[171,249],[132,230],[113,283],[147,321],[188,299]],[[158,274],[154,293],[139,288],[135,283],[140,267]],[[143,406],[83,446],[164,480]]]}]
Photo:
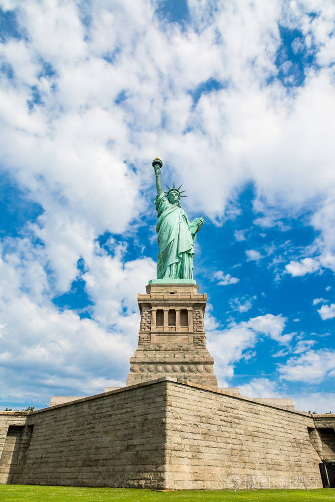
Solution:
[{"label": "entire stone base wall with both faces meeting at a corner", "polygon": [[[21,417],[0,412],[2,445],[15,420],[26,430],[23,447],[11,478],[2,482],[171,490],[322,487],[322,442],[312,415],[171,378]],[[334,420],[318,416],[316,422],[329,435]]]}]

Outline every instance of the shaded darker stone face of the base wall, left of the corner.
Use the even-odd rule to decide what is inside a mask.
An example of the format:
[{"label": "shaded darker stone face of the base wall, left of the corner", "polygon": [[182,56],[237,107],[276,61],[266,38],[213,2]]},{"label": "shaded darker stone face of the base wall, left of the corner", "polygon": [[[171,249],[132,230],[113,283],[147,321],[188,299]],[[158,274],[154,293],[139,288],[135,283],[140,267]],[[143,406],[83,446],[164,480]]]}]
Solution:
[{"label": "shaded darker stone face of the base wall, left of the corner", "polygon": [[165,488],[165,385],[34,412],[12,483]]}]

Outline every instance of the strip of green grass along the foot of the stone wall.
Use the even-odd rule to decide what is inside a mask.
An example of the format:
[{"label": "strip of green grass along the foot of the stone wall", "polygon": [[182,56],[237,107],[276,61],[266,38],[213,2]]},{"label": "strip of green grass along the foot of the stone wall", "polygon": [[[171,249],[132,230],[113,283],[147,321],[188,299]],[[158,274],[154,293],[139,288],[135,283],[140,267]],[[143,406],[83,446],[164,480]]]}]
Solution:
[{"label": "strip of green grass along the foot of the stone wall", "polygon": [[151,491],[131,488],[0,485],[1,502],[324,502],[335,501],[335,489],[314,490],[183,490]]}]

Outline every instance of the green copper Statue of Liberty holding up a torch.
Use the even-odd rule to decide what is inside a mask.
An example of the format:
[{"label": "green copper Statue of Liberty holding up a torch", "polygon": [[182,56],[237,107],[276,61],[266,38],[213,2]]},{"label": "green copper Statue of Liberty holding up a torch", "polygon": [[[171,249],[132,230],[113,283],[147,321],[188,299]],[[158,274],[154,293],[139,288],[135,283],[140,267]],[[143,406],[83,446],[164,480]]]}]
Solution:
[{"label": "green copper Statue of Liberty holding up a torch", "polygon": [[[157,157],[153,163],[156,175],[157,196],[154,200],[158,222],[157,279],[193,279],[193,258],[196,233],[203,224],[203,218],[195,218],[191,223],[180,206],[180,187],[163,191],[161,167],[163,162]],[[167,185],[166,185],[167,186]],[[166,198],[165,198],[166,195]]]}]

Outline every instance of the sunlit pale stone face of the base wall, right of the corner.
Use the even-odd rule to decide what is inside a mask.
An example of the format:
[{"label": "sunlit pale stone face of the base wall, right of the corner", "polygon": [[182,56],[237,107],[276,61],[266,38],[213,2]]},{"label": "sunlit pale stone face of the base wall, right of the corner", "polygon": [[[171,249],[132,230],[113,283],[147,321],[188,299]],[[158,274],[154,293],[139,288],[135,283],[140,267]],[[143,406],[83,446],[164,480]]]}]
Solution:
[{"label": "sunlit pale stone face of the base wall, right of the corner", "polygon": [[307,414],[170,382],[167,404],[168,488],[322,487]]}]

